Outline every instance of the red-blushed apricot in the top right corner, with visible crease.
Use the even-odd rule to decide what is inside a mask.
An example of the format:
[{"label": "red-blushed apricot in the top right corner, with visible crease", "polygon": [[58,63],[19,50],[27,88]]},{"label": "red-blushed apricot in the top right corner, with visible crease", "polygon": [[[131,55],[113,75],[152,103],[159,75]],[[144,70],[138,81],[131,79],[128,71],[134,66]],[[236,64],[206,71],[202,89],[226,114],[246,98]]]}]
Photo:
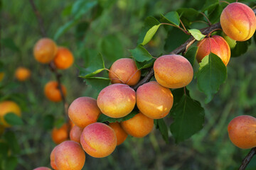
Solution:
[{"label": "red-blushed apricot in the top right corner, with visible crease", "polygon": [[249,6],[234,2],[226,6],[222,11],[220,25],[224,33],[233,40],[248,40],[255,33],[255,13]]}]

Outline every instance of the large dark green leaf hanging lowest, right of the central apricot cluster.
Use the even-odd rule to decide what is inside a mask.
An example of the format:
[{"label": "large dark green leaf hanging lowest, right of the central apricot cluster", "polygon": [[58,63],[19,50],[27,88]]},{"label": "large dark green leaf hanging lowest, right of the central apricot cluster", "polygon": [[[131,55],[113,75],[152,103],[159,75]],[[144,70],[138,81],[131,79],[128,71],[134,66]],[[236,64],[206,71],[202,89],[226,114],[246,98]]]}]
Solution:
[{"label": "large dark green leaf hanging lowest, right of the central apricot cluster", "polygon": [[175,142],[182,142],[203,128],[204,110],[198,101],[183,95],[178,104],[172,108],[171,133]]}]

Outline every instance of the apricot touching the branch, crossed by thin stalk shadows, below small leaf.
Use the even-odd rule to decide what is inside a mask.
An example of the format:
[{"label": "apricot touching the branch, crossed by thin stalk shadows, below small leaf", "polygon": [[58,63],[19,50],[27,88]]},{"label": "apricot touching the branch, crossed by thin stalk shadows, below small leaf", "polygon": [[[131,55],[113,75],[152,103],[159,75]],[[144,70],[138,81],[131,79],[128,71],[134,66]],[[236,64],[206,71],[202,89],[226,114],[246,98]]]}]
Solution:
[{"label": "apricot touching the branch, crossed by thin stalk shadows, below small leaf", "polygon": [[118,83],[134,86],[139,82],[141,71],[137,68],[134,60],[122,58],[112,64],[109,77],[112,84]]}]

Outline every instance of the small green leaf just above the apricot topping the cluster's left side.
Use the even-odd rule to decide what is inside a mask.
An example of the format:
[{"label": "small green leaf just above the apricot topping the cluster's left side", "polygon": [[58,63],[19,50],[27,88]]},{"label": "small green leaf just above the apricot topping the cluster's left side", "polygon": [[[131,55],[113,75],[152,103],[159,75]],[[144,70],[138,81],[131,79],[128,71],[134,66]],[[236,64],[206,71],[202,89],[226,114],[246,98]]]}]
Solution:
[{"label": "small green leaf just above the apricot topping the cluster's left side", "polygon": [[138,45],[136,48],[129,50],[129,52],[132,53],[132,57],[138,62],[149,61],[153,58],[142,45]]}]

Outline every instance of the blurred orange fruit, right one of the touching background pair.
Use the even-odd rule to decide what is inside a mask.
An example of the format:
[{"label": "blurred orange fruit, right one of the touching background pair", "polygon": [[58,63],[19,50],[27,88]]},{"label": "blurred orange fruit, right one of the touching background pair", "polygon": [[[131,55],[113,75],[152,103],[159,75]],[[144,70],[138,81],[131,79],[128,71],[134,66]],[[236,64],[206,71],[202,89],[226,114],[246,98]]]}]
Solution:
[{"label": "blurred orange fruit, right one of the touching background pair", "polygon": [[65,47],[58,47],[58,52],[53,60],[58,69],[68,69],[74,62],[72,52]]}]

